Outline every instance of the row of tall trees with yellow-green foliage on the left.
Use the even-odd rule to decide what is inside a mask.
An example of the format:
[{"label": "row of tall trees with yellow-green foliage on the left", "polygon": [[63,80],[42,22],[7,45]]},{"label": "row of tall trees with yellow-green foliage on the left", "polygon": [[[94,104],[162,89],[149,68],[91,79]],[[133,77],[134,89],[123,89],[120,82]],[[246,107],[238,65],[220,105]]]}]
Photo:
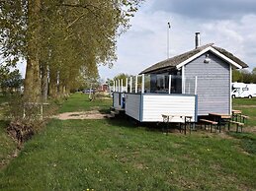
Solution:
[{"label": "row of tall trees with yellow-green foliage on the left", "polygon": [[34,101],[41,93],[44,99],[66,95],[98,78],[97,66],[111,67],[117,59],[117,37],[128,30],[141,2],[0,1],[0,46],[9,65],[27,60],[25,96]]}]

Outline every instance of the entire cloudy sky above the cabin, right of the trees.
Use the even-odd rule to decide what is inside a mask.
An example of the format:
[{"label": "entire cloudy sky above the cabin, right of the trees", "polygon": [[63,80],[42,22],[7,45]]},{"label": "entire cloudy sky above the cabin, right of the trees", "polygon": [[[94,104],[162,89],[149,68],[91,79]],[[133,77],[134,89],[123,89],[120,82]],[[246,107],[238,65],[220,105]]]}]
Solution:
[{"label": "entire cloudy sky above the cabin, right of the trees", "polygon": [[256,67],[255,0],[146,0],[118,38],[117,62],[99,67],[101,78],[136,75],[166,59],[168,22],[170,57],[194,49],[195,32],[201,32],[201,45],[214,43],[249,70]]}]

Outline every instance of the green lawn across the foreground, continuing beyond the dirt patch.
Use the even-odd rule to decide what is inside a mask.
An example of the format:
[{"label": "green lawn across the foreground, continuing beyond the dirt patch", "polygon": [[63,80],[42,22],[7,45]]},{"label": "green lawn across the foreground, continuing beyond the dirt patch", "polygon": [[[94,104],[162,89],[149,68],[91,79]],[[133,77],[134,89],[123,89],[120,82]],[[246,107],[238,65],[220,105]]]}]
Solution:
[{"label": "green lawn across the foreground, continuing beyond the dirt patch", "polygon": [[[110,106],[86,98],[60,111]],[[255,145],[252,133],[166,136],[126,119],[54,119],[0,171],[0,190],[255,190]]]}]

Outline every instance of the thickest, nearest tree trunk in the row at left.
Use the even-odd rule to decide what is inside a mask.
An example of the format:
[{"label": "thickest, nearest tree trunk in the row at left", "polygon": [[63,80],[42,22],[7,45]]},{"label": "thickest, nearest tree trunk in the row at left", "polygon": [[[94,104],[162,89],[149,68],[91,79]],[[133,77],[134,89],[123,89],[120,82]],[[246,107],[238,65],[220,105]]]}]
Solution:
[{"label": "thickest, nearest tree trunk in the row at left", "polygon": [[40,10],[41,0],[28,1],[28,56],[24,82],[24,96],[27,101],[39,101],[40,78]]}]

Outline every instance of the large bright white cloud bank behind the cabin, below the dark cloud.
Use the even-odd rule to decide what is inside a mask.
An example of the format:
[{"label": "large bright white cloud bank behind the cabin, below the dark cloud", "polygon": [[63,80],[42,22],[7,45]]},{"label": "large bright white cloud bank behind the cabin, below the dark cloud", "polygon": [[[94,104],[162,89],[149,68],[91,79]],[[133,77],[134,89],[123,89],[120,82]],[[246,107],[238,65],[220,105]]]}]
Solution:
[{"label": "large bright white cloud bank behind the cabin, below the dark cloud", "polygon": [[[145,5],[147,6],[147,5]],[[131,21],[131,29],[118,40],[118,61],[114,68],[100,68],[108,78],[120,73],[138,74],[167,58],[167,22],[171,22],[170,54],[175,56],[195,48],[195,32],[202,44],[225,48],[251,68],[256,67],[256,15],[245,14],[237,20],[186,19],[182,15],[142,9]],[[150,10],[150,14],[148,14]]]}]

